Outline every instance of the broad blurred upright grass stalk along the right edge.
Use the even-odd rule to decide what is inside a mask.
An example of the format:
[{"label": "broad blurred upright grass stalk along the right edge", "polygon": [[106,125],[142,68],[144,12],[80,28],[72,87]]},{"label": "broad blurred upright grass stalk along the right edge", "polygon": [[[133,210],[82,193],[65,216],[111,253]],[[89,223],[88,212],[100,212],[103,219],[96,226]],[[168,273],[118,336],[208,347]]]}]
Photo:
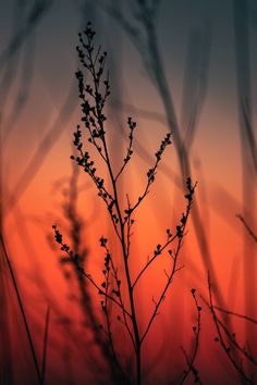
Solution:
[{"label": "broad blurred upright grass stalk along the right edge", "polygon": [[[253,124],[249,1],[234,0],[235,67],[237,77],[237,111],[241,134],[243,218],[252,226],[256,220],[257,148]],[[245,314],[256,319],[256,248],[244,231],[243,276]],[[246,340],[254,340],[254,326],[245,323]]]}]

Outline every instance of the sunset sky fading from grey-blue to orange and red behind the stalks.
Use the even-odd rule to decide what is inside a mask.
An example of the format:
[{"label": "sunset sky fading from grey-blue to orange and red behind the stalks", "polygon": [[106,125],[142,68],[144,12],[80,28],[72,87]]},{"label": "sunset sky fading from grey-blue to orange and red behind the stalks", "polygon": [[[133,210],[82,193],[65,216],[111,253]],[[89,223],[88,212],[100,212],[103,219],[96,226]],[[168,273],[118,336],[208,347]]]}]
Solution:
[{"label": "sunset sky fading from grey-blue to orange and red behind the stalks", "polygon": [[[75,72],[81,67],[76,54],[77,34],[85,29],[88,21],[97,33],[97,45],[108,52],[111,95],[106,114],[114,170],[119,170],[127,148],[127,116],[137,122],[133,159],[119,185],[123,208],[127,192],[135,201],[144,190],[155,152],[164,135],[172,132],[172,145],[163,154],[157,179],[137,212],[131,264],[134,277],[156,245],[164,241],[166,229],[175,228],[185,211],[185,177],[197,181],[195,203],[181,251],[183,269],[176,273],[172,294],[163,303],[161,315],[157,318],[157,325],[144,348],[146,372],[151,360],[157,361],[149,384],[150,381],[155,383],[155,376],[160,373],[166,383],[169,357],[178,368],[183,368],[183,356],[176,355],[174,346],[180,349],[192,338],[188,333],[195,318],[191,288],[196,287],[206,298],[208,271],[213,280],[218,305],[255,319],[257,315],[253,305],[253,291],[256,293],[254,234],[257,228],[257,95],[254,71],[257,61],[257,8],[253,0],[162,0],[150,27],[151,35],[147,35],[143,26],[147,14],[138,14],[136,3],[136,0],[0,0],[1,234],[22,290],[32,331],[37,336],[38,355],[41,355],[48,307],[51,309],[49,357],[57,360],[54,346],[64,351],[66,344],[71,351],[70,358],[63,352],[56,368],[49,363],[49,384],[63,383],[60,367],[65,360],[73,368],[69,372],[71,377],[76,370],[77,375],[74,374],[73,380],[76,378],[77,384],[83,383],[85,374],[83,364],[76,363],[75,350],[79,350],[82,344],[79,347],[73,344],[77,336],[73,341],[65,337],[65,333],[71,336],[71,328],[75,334],[82,333],[84,315],[77,299],[77,283],[74,273],[73,281],[66,278],[71,272],[68,269],[65,275],[65,266],[61,268],[58,262],[60,251],[54,245],[51,228],[58,223],[72,243],[72,223],[65,204],[76,177],[76,215],[83,223],[81,247],[87,250],[87,269],[97,280],[101,278],[102,257],[97,256],[102,253],[99,248],[102,235],[110,237],[118,262],[120,256],[119,243],[105,204],[97,197],[96,186],[85,173],[79,172],[76,176],[75,164],[70,159],[75,153],[73,132],[82,117],[75,78]],[[245,4],[248,5],[248,14]],[[124,25],[128,25],[128,30]],[[133,34],[130,35],[130,30]],[[152,49],[156,51],[151,55]],[[184,173],[178,156],[178,135],[182,141],[187,138],[184,144],[189,166],[184,169]],[[90,151],[97,156],[93,148]],[[100,161],[96,160],[96,163],[99,172],[106,175]],[[236,214],[243,215],[241,220]],[[254,234],[250,235],[249,228]],[[159,260],[143,281],[140,290],[138,288],[138,308],[144,309],[140,314],[143,330],[155,303],[155,291],[158,294],[164,283],[163,271],[169,268],[168,262]],[[9,314],[5,323],[10,324],[10,327],[4,327],[9,330],[13,347],[24,330],[10,271],[5,264],[1,269],[4,272],[1,285],[5,293],[2,300]],[[99,298],[94,293],[91,296],[98,314]],[[10,319],[12,307],[20,320],[17,323]],[[167,315],[170,313],[171,320]],[[65,319],[69,320],[66,324]],[[205,344],[200,345],[197,361],[203,378],[209,384],[210,377],[216,375],[217,381],[222,377],[227,378],[225,383],[231,381],[234,384],[236,376],[227,364],[222,367],[222,356],[211,344],[215,331],[208,307],[204,320]],[[253,327],[236,322],[233,327],[238,328],[242,340],[256,338]],[[163,351],[167,324],[172,325],[169,333],[173,344],[166,349],[166,359],[161,361],[155,353],[158,349]],[[124,331],[115,327],[120,346]],[[90,340],[90,333],[85,332],[83,341]],[[19,351],[26,351],[24,368],[30,368],[26,337],[21,338],[20,344]],[[217,370],[204,364],[208,346],[211,346],[210,355],[218,362]],[[12,349],[12,358],[20,355]],[[96,362],[100,353],[97,348],[93,351],[95,358],[85,359]],[[16,359],[21,361],[21,357]],[[21,370],[21,373],[25,378],[26,370]],[[86,375],[90,378],[94,373]],[[173,376],[176,375],[179,373],[174,371]],[[15,381],[14,375],[14,384]]]}]

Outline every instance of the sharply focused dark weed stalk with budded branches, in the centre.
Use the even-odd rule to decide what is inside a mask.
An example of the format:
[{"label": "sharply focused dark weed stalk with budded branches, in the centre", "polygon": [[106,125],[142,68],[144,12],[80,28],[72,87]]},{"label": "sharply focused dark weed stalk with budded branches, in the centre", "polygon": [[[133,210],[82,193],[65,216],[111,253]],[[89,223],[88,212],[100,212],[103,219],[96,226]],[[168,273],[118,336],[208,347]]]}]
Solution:
[{"label": "sharply focused dark weed stalk with budded branches, in the centre", "polygon": [[[191,178],[186,179],[187,192],[185,195],[187,204],[186,210],[182,214],[180,224],[176,226],[175,232],[172,234],[170,229],[167,229],[167,240],[163,245],[158,244],[149,257],[148,261],[145,263],[143,269],[137,273],[136,278],[133,281],[130,259],[131,254],[131,241],[132,241],[132,227],[135,222],[135,212],[142,204],[143,200],[149,194],[150,186],[155,182],[158,165],[162,159],[163,152],[167,147],[171,144],[171,134],[167,134],[160,144],[155,157],[156,161],[146,173],[146,184],[140,196],[132,202],[128,195],[126,195],[126,208],[122,209],[124,201],[121,198],[119,190],[119,178],[121,177],[123,171],[127,166],[132,156],[133,156],[133,138],[136,128],[136,123],[132,117],[127,119],[128,127],[128,146],[118,172],[114,172],[114,166],[111,162],[110,151],[107,144],[107,132],[106,132],[106,115],[105,105],[107,99],[110,95],[110,83],[109,73],[105,71],[107,53],[102,52],[101,47],[96,48],[94,44],[95,32],[91,28],[90,23],[83,34],[79,36],[79,46],[77,46],[77,53],[83,65],[83,71],[78,70],[76,72],[76,77],[78,80],[79,99],[82,107],[82,122],[84,127],[77,125],[74,133],[74,146],[76,148],[77,154],[72,156],[72,160],[82,167],[88,176],[93,179],[100,199],[103,200],[107,210],[110,214],[110,219],[121,247],[121,259],[119,263],[122,264],[124,274],[118,270],[115,264],[115,259],[113,258],[111,250],[109,249],[108,239],[106,237],[100,238],[100,246],[105,252],[105,262],[102,268],[102,282],[98,283],[81,264],[79,256],[74,252],[70,246],[63,241],[62,234],[58,229],[57,225],[53,226],[56,241],[60,244],[61,250],[65,252],[66,260],[72,262],[76,270],[82,274],[88,282],[98,290],[100,296],[100,303],[105,314],[105,325],[100,325],[103,330],[106,336],[109,340],[110,348],[113,356],[113,361],[120,369],[120,372],[128,382],[142,384],[142,345],[152,322],[158,314],[159,308],[167,295],[167,291],[172,283],[175,273],[181,270],[179,266],[179,254],[183,244],[183,238],[185,234],[185,227],[187,219],[192,209],[193,196],[195,190],[195,185],[192,184]],[[84,72],[89,76],[89,82],[85,83]],[[107,181],[99,174],[95,161],[91,159],[88,147],[85,149],[85,142],[83,136],[87,137],[89,144],[97,150],[99,158],[106,166],[108,172],[108,177],[110,181],[110,187]],[[160,258],[161,254],[167,252],[167,256],[171,262],[170,272],[166,272],[167,282],[163,285],[159,297],[154,302],[154,309],[149,319],[145,325],[145,328],[139,328],[139,318],[140,308],[135,300],[135,294],[137,291],[137,283],[145,275],[148,268],[154,263],[154,261]],[[124,282],[122,282],[124,277]],[[117,307],[119,315],[117,315],[117,322],[123,324],[126,330],[128,337],[131,339],[132,346],[134,348],[135,355],[135,375],[133,378],[127,378],[130,375],[124,373],[122,364],[119,359],[119,355],[115,347],[115,341],[113,337],[113,321],[111,321],[110,305]],[[198,308],[198,306],[197,306]],[[198,309],[199,310],[199,309]],[[196,335],[196,346],[198,346],[198,337]],[[193,355],[194,358],[194,355]],[[194,362],[194,360],[193,360]],[[188,362],[188,368],[194,371],[193,362]]]}]

